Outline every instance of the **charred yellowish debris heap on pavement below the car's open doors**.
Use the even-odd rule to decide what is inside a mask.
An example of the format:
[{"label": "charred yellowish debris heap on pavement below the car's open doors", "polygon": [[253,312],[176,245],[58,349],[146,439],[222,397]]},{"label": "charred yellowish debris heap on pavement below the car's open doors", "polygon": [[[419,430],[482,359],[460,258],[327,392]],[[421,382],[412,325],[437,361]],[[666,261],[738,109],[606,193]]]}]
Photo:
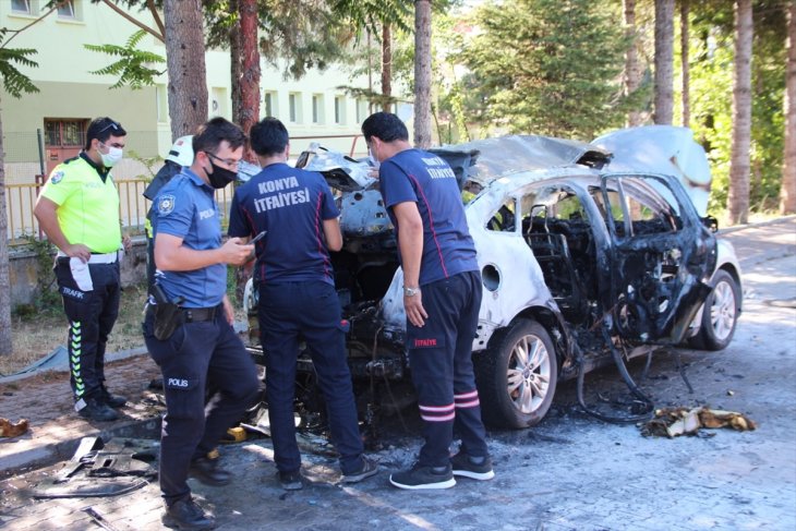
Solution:
[{"label": "charred yellowish debris heap on pavement below the car's open doors", "polygon": [[697,435],[700,427],[732,427],[739,432],[757,429],[755,421],[735,411],[701,408],[663,408],[655,411],[655,418],[641,425],[641,435],[676,437]]}]

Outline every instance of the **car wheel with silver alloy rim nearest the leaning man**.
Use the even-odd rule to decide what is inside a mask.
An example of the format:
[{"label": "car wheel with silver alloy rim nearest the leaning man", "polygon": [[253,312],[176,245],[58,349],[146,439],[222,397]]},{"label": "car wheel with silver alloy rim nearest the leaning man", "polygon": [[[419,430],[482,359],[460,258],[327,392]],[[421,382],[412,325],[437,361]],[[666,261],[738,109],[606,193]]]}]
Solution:
[{"label": "car wheel with silver alloy rim nearest the leaning man", "polygon": [[558,364],[547,330],[517,319],[495,334],[490,348],[473,357],[484,423],[523,429],[547,413],[558,381]]}]

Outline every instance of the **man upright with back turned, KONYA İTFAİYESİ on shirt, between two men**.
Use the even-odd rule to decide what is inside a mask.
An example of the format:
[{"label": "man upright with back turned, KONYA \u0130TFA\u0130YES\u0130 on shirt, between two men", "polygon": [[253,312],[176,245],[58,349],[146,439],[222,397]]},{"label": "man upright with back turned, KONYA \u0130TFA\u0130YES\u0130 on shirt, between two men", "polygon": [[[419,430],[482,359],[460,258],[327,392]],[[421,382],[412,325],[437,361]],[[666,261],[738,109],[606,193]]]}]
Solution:
[{"label": "man upright with back turned, KONYA \u0130TFA\u0130YES\u0130 on shirt, between two men", "polygon": [[354,483],[378,469],[362,455],[340,303],[329,258],[329,250],[339,251],[342,246],[339,212],[321,173],[287,164],[288,131],[279,120],[262,120],[252,126],[250,135],[263,171],[236,191],[229,236],[248,241],[249,237],[266,231],[256,243],[254,279],[260,286],[265,389],[279,481],[286,490],[302,487],[293,423],[301,336],[326,399],[342,482]]}]

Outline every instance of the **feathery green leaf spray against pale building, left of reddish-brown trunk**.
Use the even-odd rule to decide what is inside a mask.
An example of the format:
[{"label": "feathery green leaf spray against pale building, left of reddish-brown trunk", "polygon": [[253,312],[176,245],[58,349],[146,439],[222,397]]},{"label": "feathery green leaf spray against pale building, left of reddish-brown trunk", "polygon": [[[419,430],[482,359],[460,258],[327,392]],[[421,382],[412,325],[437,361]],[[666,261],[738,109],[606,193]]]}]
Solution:
[{"label": "feathery green leaf spray against pale building, left of reddish-brown trunk", "polygon": [[118,75],[119,81],[111,85],[111,88],[120,88],[129,85],[133,89],[140,89],[146,85],[154,85],[155,76],[162,74],[165,71],[155,70],[149,65],[155,63],[165,63],[166,59],[157,53],[138,50],[136,48],[144,36],[146,36],[146,32],[138,29],[130,36],[124,46],[83,45],[87,50],[107,53],[108,56],[119,58],[118,61],[99,70],[95,70],[92,74]]}]

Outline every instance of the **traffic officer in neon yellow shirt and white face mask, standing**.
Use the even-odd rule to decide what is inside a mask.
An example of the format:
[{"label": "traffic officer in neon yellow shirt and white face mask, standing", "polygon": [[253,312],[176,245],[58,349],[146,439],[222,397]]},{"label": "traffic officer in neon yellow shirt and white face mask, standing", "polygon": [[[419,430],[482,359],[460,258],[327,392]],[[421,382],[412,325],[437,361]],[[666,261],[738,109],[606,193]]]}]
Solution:
[{"label": "traffic officer in neon yellow shirt and white face mask, standing", "polygon": [[[52,170],[34,208],[39,227],[58,248],[55,271],[69,319],[74,409],[94,421],[118,419],[111,408],[125,402],[105,386],[105,347],[121,293],[119,192],[110,169],[122,158],[125,136],[110,118],[92,120],[83,150]],[[130,239],[123,244],[129,248]]]}]

